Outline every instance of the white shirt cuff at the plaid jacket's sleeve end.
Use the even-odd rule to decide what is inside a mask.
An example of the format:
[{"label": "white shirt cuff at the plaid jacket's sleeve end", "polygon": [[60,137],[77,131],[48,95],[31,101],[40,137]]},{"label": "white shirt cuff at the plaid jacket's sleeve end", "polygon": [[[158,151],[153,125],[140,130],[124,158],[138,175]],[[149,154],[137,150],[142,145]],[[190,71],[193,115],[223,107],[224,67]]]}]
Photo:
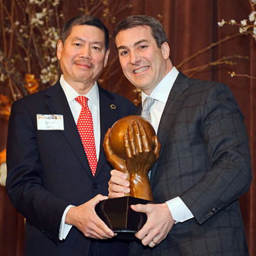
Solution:
[{"label": "white shirt cuff at the plaid jacket's sleeve end", "polygon": [[166,204],[172,214],[173,220],[175,220],[175,224],[194,218],[192,212],[179,196],[166,201]]}]

